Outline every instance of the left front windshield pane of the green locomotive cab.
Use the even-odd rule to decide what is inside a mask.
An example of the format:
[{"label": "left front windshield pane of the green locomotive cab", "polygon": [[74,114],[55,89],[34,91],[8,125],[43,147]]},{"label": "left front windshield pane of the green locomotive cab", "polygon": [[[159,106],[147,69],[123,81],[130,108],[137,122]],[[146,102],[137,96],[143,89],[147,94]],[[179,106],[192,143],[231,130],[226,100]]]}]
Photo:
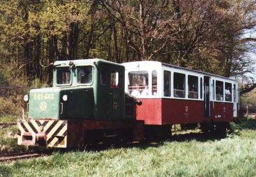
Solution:
[{"label": "left front windshield pane of the green locomotive cab", "polygon": [[70,68],[57,68],[57,84],[70,84],[71,83],[71,69]]}]

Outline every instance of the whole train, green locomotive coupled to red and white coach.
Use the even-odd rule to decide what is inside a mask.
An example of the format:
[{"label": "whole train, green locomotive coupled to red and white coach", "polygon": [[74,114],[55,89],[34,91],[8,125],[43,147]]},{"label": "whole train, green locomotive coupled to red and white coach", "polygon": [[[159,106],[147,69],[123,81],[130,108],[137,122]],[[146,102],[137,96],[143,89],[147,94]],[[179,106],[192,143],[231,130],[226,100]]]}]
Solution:
[{"label": "whole train, green locomotive coupled to red and white coach", "polygon": [[24,95],[18,144],[143,142],[169,137],[173,124],[225,133],[237,119],[238,94],[234,79],[158,61],[56,61],[53,86]]}]

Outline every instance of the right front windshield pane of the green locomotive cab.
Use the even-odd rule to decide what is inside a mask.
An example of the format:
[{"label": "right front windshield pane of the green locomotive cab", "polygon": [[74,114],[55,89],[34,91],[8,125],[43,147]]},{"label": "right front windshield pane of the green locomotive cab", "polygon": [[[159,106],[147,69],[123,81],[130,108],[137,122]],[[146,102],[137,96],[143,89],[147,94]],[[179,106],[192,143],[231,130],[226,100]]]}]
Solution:
[{"label": "right front windshield pane of the green locomotive cab", "polygon": [[77,68],[77,83],[78,84],[92,83],[92,67],[91,66]]}]

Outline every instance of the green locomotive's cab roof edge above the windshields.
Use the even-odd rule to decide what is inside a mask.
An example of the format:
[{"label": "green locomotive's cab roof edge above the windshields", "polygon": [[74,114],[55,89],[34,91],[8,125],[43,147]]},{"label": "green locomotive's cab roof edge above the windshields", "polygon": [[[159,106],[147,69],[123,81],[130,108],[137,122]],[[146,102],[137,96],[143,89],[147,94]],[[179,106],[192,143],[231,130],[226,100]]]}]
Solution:
[{"label": "green locomotive's cab roof edge above the windshields", "polygon": [[111,62],[111,61],[107,61],[107,60],[103,60],[103,59],[99,59],[99,58],[92,58],[92,59],[77,59],[77,60],[60,60],[60,61],[55,61],[54,62],[54,66],[59,66],[59,65],[64,65],[64,66],[68,66],[69,62],[73,61],[74,65],[88,65],[94,62],[104,62],[104,63],[108,63],[109,65],[116,65],[119,67],[123,67],[123,65],[120,65],[118,63],[115,62]]}]

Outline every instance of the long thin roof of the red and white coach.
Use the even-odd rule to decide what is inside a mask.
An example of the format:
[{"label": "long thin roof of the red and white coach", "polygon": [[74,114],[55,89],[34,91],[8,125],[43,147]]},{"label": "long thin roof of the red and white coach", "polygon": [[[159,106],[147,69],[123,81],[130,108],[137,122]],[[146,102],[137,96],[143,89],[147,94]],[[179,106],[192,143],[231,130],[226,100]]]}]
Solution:
[{"label": "long thin roof of the red and white coach", "polygon": [[176,68],[176,69],[180,69],[180,70],[186,70],[186,71],[191,71],[191,72],[195,72],[195,73],[200,73],[200,74],[204,74],[207,76],[214,76],[214,77],[220,77],[223,79],[228,79],[231,81],[235,81],[235,79],[232,78],[228,78],[228,77],[224,77],[221,75],[216,75],[216,74],[212,74],[212,73],[208,73],[208,72],[204,72],[204,71],[198,71],[198,70],[193,70],[193,69],[189,69],[189,68],[184,68],[184,67],[179,67],[179,66],[175,66],[175,65],[170,65],[168,63],[164,63],[164,62],[159,62],[159,61],[132,61],[132,62],[125,62],[123,63],[123,65],[129,65],[129,63],[151,63],[151,65],[160,65],[160,66],[165,66],[165,67],[169,67],[169,68]]}]

